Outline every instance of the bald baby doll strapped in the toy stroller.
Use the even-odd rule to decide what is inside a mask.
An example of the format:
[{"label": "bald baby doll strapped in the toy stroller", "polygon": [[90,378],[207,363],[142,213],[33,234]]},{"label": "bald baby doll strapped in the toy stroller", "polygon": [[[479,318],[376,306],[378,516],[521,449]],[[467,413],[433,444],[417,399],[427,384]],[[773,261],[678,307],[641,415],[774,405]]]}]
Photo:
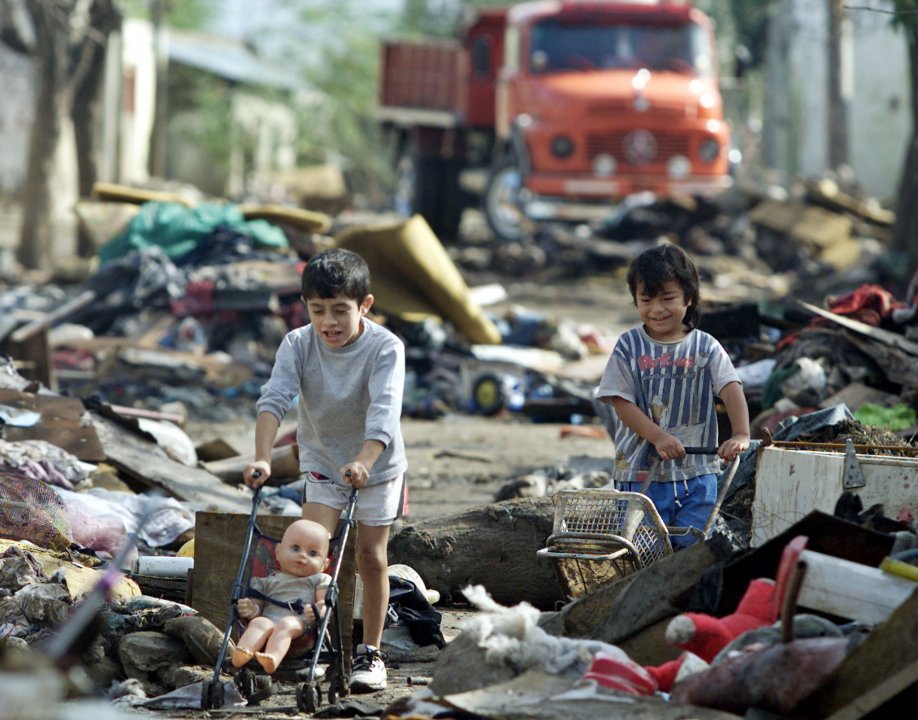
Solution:
[{"label": "bald baby doll strapped in the toy stroller", "polygon": [[[252,578],[255,598],[240,598],[237,613],[248,620],[233,651],[233,667],[253,657],[273,673],[290,649],[319,621],[331,577],[328,566],[328,531],[312,520],[296,520],[287,528],[274,555],[278,570]],[[313,642],[315,642],[313,640]]]}]

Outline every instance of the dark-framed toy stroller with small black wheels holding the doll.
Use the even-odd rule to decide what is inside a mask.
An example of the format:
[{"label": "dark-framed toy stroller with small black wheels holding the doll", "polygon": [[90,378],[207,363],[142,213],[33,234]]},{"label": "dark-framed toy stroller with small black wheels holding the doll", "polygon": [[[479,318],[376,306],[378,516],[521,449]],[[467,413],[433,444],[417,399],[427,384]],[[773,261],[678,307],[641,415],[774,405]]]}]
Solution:
[{"label": "dark-framed toy stroller with small black wheels holding the doll", "polygon": [[[241,632],[243,628],[243,621],[239,618],[236,604],[249,590],[251,578],[266,575],[273,569],[274,546],[278,540],[264,534],[258,527],[256,516],[260,493],[261,488],[256,488],[252,497],[252,511],[249,515],[245,547],[239,563],[239,570],[233,583],[232,608],[223,634],[220,653],[214,666],[214,673],[201,686],[202,710],[223,707],[224,687],[220,679],[220,672],[226,661],[227,648],[233,631]],[[255,663],[249,663],[236,670],[233,682],[249,705],[259,705],[262,700],[274,694],[277,689],[276,681],[286,680],[297,683],[297,709],[301,712],[314,713],[321,702],[319,689],[319,680],[321,678],[318,673],[320,664],[327,666],[324,678],[328,684],[328,702],[334,704],[339,698],[348,694],[349,664],[345,662],[342,650],[341,618],[338,612],[338,573],[341,569],[350,529],[356,524],[354,520],[354,507],[356,504],[357,489],[354,488],[348,497],[347,507],[341,517],[338,532],[332,538],[330,552],[332,562],[327,570],[332,580],[326,591],[326,611],[316,631],[315,645],[312,650],[308,651],[309,655],[300,654],[297,657],[297,644],[294,643],[291,646],[290,653],[272,675],[266,674],[260,667],[257,670],[252,669]]]}]

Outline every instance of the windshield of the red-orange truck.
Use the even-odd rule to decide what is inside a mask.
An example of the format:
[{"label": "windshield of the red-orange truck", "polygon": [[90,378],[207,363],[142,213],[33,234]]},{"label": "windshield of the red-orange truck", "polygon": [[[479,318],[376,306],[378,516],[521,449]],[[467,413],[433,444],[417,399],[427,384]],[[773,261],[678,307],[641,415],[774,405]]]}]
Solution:
[{"label": "windshield of the red-orange truck", "polygon": [[709,75],[711,48],[693,23],[679,25],[587,25],[543,20],[532,27],[533,73],[647,68]]}]

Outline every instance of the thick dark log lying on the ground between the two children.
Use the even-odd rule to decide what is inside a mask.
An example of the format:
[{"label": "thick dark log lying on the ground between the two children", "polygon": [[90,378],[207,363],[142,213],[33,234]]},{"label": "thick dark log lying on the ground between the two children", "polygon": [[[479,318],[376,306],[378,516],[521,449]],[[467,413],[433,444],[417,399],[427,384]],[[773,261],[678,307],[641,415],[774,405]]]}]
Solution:
[{"label": "thick dark log lying on the ground between the two children", "polygon": [[444,600],[483,585],[502,605],[562,601],[555,571],[537,557],[551,534],[550,498],[521,498],[405,525],[389,540],[389,562],[410,565]]}]

